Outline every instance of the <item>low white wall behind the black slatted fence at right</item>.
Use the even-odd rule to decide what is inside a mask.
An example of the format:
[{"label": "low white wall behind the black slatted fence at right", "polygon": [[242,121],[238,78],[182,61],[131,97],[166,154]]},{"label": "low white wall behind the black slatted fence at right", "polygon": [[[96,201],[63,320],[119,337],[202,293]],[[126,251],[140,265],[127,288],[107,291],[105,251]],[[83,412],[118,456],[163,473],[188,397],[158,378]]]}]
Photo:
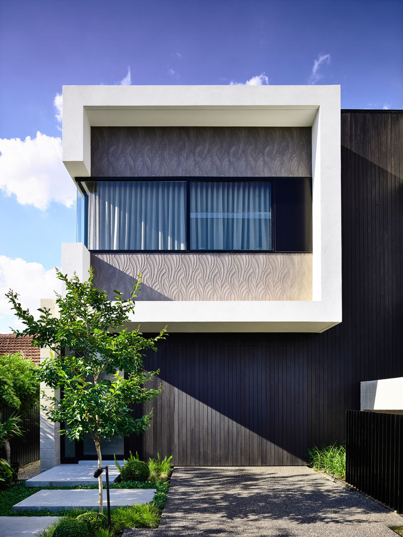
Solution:
[{"label": "low white wall behind the black slatted fence at right", "polygon": [[403,412],[403,377],[361,382],[361,410]]}]

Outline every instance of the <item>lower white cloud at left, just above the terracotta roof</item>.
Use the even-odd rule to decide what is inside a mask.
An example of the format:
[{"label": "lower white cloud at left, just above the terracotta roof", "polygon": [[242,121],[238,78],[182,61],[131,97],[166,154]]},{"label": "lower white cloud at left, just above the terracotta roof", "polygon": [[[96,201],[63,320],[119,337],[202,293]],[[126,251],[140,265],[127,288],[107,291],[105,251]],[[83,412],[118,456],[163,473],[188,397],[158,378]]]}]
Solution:
[{"label": "lower white cloud at left, just above the terracotta roof", "polygon": [[54,298],[54,291],[61,292],[61,282],[56,278],[55,269],[45,270],[40,263],[0,256],[0,333],[9,333],[10,326],[23,328],[4,296],[9,289],[18,293],[21,306],[29,308],[38,318],[36,310],[40,307],[40,299]]}]

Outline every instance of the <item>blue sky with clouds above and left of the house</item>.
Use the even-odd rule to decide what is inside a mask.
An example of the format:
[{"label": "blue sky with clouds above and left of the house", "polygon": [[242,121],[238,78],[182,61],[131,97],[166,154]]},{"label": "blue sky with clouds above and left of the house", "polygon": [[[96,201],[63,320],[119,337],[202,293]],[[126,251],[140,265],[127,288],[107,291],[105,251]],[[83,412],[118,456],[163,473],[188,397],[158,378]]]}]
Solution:
[{"label": "blue sky with clouds above and left of the house", "polygon": [[0,0],[0,293],[49,294],[76,238],[63,84],[341,84],[343,108],[398,109],[402,29],[400,0]]}]

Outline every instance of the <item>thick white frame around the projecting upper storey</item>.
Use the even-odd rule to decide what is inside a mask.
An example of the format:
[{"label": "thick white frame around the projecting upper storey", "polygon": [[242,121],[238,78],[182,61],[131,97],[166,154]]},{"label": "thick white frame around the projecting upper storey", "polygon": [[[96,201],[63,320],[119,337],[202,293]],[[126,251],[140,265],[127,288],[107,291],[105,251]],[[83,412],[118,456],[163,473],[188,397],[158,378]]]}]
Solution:
[{"label": "thick white frame around the projecting upper storey", "polygon": [[63,86],[73,179],[90,177],[91,126],[312,127],[312,301],[138,302],[143,331],[323,332],[341,322],[340,121],[340,86]]}]

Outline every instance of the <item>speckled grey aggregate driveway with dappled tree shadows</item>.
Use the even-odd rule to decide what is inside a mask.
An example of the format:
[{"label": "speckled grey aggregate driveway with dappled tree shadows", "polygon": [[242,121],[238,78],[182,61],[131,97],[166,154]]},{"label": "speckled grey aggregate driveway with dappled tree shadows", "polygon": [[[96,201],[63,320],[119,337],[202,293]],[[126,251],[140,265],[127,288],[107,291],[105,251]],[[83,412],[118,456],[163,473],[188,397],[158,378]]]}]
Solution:
[{"label": "speckled grey aggregate driveway with dappled tree shadows", "polygon": [[[396,537],[403,518],[307,467],[175,468],[153,537]],[[126,529],[123,537],[149,537]]]}]

